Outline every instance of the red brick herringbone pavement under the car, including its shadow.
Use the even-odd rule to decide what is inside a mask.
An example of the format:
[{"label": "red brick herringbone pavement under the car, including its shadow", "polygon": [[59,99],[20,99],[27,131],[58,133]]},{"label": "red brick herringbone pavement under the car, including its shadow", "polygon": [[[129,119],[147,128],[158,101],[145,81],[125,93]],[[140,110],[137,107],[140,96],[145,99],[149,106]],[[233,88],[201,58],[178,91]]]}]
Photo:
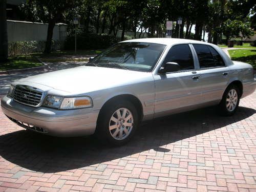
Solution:
[{"label": "red brick herringbone pavement under the car, including its shadow", "polygon": [[0,111],[0,191],[256,191],[255,108],[256,92],[232,117],[155,120],[121,147],[34,134]]}]

